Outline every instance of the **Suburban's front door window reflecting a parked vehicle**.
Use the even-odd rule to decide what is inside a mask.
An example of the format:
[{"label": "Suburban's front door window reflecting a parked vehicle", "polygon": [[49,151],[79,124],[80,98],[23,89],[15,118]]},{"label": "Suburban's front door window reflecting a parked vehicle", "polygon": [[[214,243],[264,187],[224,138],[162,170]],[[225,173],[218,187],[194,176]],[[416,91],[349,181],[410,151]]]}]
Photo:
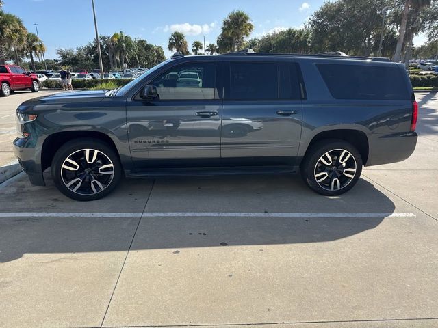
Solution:
[{"label": "Suburban's front door window reflecting a parked vehicle", "polygon": [[214,99],[216,64],[184,64],[152,82],[161,100]]}]

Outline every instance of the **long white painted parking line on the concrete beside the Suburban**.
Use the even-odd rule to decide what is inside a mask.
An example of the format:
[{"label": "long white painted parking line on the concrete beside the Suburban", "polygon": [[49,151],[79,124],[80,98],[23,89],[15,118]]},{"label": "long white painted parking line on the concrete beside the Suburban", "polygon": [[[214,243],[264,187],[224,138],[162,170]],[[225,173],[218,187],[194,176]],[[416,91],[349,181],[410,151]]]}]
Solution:
[{"label": "long white painted parking line on the concrete beside the Suburban", "polygon": [[413,213],[240,213],[240,212],[150,212],[68,213],[0,212],[0,217],[415,217]]}]

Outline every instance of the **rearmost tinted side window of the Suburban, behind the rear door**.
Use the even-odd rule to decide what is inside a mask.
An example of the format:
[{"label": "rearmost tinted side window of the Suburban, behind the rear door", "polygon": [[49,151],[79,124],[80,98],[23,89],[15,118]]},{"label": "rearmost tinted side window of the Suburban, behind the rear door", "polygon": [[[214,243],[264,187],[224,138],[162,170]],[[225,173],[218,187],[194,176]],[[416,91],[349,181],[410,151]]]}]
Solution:
[{"label": "rearmost tinted side window of the Suburban, behind the rear door", "polygon": [[409,100],[397,67],[316,64],[333,98]]}]

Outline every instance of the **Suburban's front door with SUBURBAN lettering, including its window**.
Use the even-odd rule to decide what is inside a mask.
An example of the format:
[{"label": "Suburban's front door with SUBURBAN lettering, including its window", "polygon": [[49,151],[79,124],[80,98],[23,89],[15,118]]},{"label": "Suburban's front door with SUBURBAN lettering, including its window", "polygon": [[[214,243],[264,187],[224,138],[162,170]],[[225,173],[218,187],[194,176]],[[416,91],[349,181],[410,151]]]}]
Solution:
[{"label": "Suburban's front door with SUBURBAN lettering, including its window", "polygon": [[181,64],[155,78],[156,100],[127,102],[131,155],[137,169],[220,163],[222,100],[216,64]]}]

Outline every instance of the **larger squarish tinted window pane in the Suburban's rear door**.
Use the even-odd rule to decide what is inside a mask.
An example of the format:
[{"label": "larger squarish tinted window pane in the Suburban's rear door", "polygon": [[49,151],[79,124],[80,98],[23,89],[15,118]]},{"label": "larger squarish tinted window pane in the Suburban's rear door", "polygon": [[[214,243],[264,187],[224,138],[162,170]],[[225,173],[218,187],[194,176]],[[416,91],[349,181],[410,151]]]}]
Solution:
[{"label": "larger squarish tinted window pane in the Suburban's rear door", "polygon": [[231,63],[230,98],[236,100],[278,99],[277,64]]}]

